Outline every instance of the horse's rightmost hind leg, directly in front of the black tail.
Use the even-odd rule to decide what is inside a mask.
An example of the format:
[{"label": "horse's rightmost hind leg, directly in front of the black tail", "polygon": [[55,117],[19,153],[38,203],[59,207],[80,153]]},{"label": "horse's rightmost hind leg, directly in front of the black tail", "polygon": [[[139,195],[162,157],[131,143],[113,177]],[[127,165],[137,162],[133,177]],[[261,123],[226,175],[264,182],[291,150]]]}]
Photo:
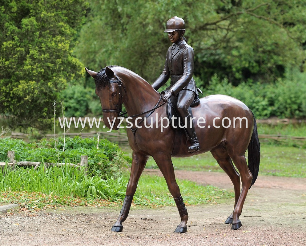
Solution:
[{"label": "horse's rightmost hind leg, directly in front of the black tail", "polygon": [[236,230],[241,227],[241,221],[239,220],[239,216],[241,215],[244,201],[248,194],[248,189],[250,188],[252,184],[253,176],[248,168],[244,154],[231,155],[231,153],[229,152],[229,155],[231,156],[235,166],[237,167],[240,173],[241,183],[242,183],[240,196],[238,198],[237,204],[233,212],[232,229]]}]

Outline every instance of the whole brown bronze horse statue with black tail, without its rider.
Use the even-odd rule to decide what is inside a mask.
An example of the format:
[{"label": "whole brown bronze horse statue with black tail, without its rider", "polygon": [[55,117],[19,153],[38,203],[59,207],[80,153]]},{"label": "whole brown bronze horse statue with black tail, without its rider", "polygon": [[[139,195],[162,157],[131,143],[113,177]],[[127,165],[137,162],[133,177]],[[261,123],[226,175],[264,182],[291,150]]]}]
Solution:
[{"label": "whole brown bronze horse statue with black tail, without its rider", "polygon": [[[163,132],[159,127],[144,127],[144,119],[153,123],[153,126],[160,126],[161,120],[167,117],[167,105],[161,101],[160,93],[142,77],[119,66],[106,67],[99,72],[86,68],[86,71],[95,78],[96,94],[101,102],[105,125],[108,128],[119,129],[118,118],[122,115],[124,104],[127,114],[131,117],[129,121],[134,126],[127,129],[129,145],[133,150],[131,175],[121,212],[111,230],[123,230],[122,223],[128,216],[140,175],[148,158],[152,156],[166,179],[168,189],[179,210],[181,222],[175,232],[186,232],[188,213],[175,181],[171,157],[187,157],[207,151],[211,152],[234,185],[234,211],[225,223],[232,224],[232,229],[240,228],[242,225],[239,216],[248,189],[256,181],[260,162],[260,143],[252,111],[244,103],[230,96],[211,95],[202,98],[199,105],[192,108],[195,119],[203,117],[198,121],[201,124],[195,124],[201,150],[191,154],[187,151],[185,134],[171,127],[164,128]],[[138,122],[135,122],[136,116],[142,120],[138,119]],[[240,119],[240,127],[231,125],[237,119]],[[135,123],[138,127],[135,127]],[[248,164],[245,158],[247,149]]]}]

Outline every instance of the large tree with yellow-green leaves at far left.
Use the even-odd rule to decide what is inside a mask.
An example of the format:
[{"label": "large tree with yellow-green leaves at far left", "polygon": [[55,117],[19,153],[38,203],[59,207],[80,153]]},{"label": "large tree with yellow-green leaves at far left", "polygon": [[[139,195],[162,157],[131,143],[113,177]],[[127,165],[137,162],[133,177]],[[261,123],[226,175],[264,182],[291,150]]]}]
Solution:
[{"label": "large tree with yellow-green leaves at far left", "polygon": [[53,99],[83,66],[73,56],[85,0],[0,0],[0,113],[10,127],[46,129]]}]

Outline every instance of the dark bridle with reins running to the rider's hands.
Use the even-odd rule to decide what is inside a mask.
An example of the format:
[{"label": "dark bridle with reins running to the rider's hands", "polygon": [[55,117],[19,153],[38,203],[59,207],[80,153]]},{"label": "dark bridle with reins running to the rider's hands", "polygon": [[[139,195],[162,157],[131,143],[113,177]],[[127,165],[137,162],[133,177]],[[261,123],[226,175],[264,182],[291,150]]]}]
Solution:
[{"label": "dark bridle with reins running to the rider's hands", "polygon": [[[122,111],[123,94],[121,93],[121,88],[124,89],[125,96],[127,95],[127,90],[126,90],[125,86],[122,84],[121,80],[118,79],[118,80],[112,80],[112,81],[110,81],[110,84],[113,84],[113,83],[117,83],[117,84],[118,84],[118,87],[119,87],[119,102],[118,102],[117,104],[115,104],[114,109],[102,109],[102,111],[103,111],[103,112],[106,112],[106,113],[117,113],[117,112],[119,112],[119,117],[127,118],[127,116],[125,116],[125,115],[127,114],[127,112],[123,112],[123,111]],[[143,112],[143,113],[137,114],[137,115],[131,115],[131,116],[129,116],[129,118],[130,118],[130,117],[133,118],[133,117],[136,117],[136,116],[139,116],[139,115],[143,115],[143,114],[146,114],[146,113],[149,113],[149,112],[150,112],[150,113],[149,113],[148,115],[146,115],[144,118],[149,117],[149,116],[154,112],[155,109],[157,109],[157,108],[163,106],[165,103],[167,103],[167,101],[166,101],[166,102],[162,103],[161,105],[158,105],[158,104],[160,103],[161,100],[162,100],[162,95],[160,95],[159,100],[158,100],[158,102],[156,103],[156,105],[155,105],[154,108],[152,108],[152,109],[150,109],[150,110],[148,110],[148,111],[145,111],[145,112]],[[141,121],[141,122],[142,122],[142,121]],[[140,122],[140,123],[141,123],[141,122]]]}]

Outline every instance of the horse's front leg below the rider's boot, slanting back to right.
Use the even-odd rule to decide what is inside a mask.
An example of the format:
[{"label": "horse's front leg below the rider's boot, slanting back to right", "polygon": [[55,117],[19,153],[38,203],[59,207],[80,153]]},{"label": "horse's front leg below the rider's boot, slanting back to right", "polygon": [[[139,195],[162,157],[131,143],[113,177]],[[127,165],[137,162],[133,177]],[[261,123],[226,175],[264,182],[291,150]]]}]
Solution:
[{"label": "horse's front leg below the rider's boot, slanting back to right", "polygon": [[164,178],[166,179],[168,189],[174,198],[177,209],[179,210],[179,216],[181,217],[181,223],[177,226],[174,232],[187,232],[187,221],[188,213],[183,202],[183,198],[179,191],[179,186],[175,180],[174,168],[171,161],[171,155],[164,153],[158,153],[153,156],[157,166],[162,172]]}]

